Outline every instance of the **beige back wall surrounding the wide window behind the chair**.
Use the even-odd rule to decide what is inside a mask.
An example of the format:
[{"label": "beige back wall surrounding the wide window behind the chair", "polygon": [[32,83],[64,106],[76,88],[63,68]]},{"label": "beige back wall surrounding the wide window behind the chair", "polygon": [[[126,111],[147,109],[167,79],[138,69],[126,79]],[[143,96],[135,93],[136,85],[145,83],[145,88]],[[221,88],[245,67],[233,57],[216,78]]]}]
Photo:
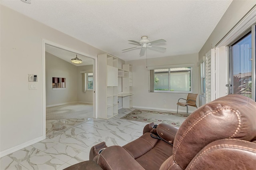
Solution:
[{"label": "beige back wall surrounding the wide window behind the chair", "polygon": [[[193,93],[198,93],[197,61],[198,54],[177,55],[148,59],[148,66],[194,64],[192,90]],[[146,68],[146,59],[126,61],[126,63],[132,65],[134,107],[176,111],[178,99],[186,99],[188,93],[149,93],[149,71]],[[185,107],[180,107],[179,111],[182,110],[186,112]],[[194,110],[193,107],[189,108],[189,111]]]}]

